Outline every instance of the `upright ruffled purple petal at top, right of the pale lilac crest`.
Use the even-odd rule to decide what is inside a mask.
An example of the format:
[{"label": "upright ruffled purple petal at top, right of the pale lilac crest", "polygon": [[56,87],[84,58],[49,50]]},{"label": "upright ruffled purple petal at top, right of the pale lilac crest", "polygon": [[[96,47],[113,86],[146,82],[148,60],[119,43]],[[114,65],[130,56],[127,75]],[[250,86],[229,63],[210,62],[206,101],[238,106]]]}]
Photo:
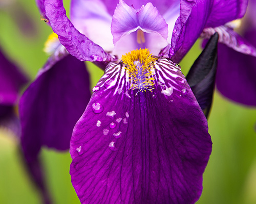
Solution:
[{"label": "upright ruffled purple petal at top, right of the pale lilac crest", "polygon": [[241,18],[248,1],[181,0],[180,17],[172,36],[170,57],[179,62],[196,42],[204,28],[217,27],[228,21]]}]

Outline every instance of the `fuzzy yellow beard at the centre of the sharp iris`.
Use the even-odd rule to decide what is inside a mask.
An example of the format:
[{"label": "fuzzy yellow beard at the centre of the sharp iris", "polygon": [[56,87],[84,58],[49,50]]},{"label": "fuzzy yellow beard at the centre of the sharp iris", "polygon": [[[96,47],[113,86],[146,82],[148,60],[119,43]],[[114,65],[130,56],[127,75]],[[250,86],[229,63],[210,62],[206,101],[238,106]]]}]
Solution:
[{"label": "fuzzy yellow beard at the centre of the sharp iris", "polygon": [[138,89],[138,92],[154,89],[155,78],[152,70],[156,59],[148,49],[141,48],[122,56],[123,63],[127,65],[125,70],[130,77],[130,89]]}]

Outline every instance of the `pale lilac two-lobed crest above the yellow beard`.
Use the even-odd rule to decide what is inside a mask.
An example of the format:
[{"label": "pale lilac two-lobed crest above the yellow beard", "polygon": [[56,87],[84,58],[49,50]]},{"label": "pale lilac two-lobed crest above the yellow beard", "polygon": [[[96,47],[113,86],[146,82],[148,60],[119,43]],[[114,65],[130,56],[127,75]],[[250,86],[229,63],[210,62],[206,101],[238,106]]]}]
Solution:
[{"label": "pale lilac two-lobed crest above the yellow beard", "polygon": [[113,15],[111,32],[114,44],[126,34],[138,29],[147,33],[158,33],[164,39],[168,37],[168,25],[152,3],[143,5],[139,11],[129,7],[122,0],[116,7]]}]

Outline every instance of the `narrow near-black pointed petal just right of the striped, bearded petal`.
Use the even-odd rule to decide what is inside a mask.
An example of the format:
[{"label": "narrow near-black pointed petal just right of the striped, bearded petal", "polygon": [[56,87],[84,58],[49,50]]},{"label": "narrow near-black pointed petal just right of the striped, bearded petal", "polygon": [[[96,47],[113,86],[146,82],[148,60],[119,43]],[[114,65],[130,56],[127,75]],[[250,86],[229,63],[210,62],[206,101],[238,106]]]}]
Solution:
[{"label": "narrow near-black pointed petal just right of the striped, bearded petal", "polygon": [[212,94],[215,87],[218,39],[218,33],[215,33],[209,39],[204,50],[191,66],[186,76],[187,83],[195,94],[206,118],[210,111]]}]

